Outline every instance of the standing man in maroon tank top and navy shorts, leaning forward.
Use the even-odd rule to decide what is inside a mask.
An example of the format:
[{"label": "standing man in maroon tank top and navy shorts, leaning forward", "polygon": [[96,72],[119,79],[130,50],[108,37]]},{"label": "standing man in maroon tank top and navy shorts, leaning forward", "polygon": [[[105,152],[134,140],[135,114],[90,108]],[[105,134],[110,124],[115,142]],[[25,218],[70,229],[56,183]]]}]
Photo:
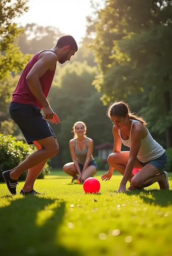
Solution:
[{"label": "standing man in maroon tank top and navy shorts, leaning forward", "polygon": [[[60,37],[54,48],[42,50],[30,59],[13,92],[9,114],[19,126],[27,143],[34,144],[38,149],[13,170],[3,172],[8,190],[13,195],[16,194],[19,176],[26,170],[29,172],[20,194],[39,194],[33,190],[34,182],[46,161],[58,153],[56,135],[46,120],[57,124],[60,123],[60,119],[46,98],[52,85],[57,61],[61,64],[70,61],[77,50],[77,43],[72,36]],[[40,112],[41,109],[44,116]]]}]

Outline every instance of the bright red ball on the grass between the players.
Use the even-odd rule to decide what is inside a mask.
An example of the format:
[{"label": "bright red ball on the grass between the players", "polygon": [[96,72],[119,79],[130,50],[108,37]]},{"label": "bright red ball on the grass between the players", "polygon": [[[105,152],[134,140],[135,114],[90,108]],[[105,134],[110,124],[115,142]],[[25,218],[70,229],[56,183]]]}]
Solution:
[{"label": "bright red ball on the grass between the players", "polygon": [[100,182],[93,177],[87,178],[83,183],[83,190],[86,193],[96,194],[100,190]]}]

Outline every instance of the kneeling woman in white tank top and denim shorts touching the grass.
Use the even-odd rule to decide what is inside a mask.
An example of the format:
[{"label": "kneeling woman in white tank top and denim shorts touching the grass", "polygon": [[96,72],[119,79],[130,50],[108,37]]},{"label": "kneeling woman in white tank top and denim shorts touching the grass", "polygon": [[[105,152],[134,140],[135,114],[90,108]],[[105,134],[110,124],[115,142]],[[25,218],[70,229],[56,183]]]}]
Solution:
[{"label": "kneeling woman in white tank top and denim shorts touching the grass", "polygon": [[[147,123],[132,114],[124,102],[113,103],[108,109],[108,117],[114,124],[114,149],[107,158],[110,167],[102,180],[109,180],[115,169],[123,175],[117,192],[126,192],[127,181],[131,184],[128,190],[148,187],[155,182],[160,189],[169,190],[168,174],[164,171],[168,157],[145,127]],[[130,151],[121,152],[122,143],[130,147]],[[134,175],[133,168],[141,170]]]}]

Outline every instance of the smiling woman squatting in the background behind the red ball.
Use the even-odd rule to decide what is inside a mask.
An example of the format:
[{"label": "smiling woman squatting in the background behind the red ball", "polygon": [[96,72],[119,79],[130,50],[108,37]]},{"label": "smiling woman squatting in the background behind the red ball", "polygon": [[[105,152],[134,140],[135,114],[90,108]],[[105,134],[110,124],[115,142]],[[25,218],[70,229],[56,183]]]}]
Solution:
[{"label": "smiling woman squatting in the background behind the red ball", "polygon": [[93,140],[86,137],[86,125],[83,122],[76,122],[73,126],[73,132],[74,138],[69,141],[73,162],[66,163],[63,170],[73,177],[71,182],[75,179],[84,182],[97,172],[97,163],[92,155]]}]

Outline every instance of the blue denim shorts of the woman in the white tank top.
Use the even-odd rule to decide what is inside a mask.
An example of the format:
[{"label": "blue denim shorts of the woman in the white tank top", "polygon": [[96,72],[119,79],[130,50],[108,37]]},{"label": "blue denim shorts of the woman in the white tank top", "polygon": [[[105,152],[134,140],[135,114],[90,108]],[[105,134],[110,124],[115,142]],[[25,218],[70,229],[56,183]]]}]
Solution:
[{"label": "blue denim shorts of the woman in the white tank top", "polygon": [[[151,160],[150,162],[147,162],[147,163],[152,164],[153,166],[155,166],[157,168],[157,170],[159,170],[159,172],[162,173],[165,170],[165,168],[167,167],[168,155],[166,152],[164,152],[164,154],[162,154],[159,158]],[[147,163],[142,163],[142,164],[143,164],[143,166],[145,166]]]}]

